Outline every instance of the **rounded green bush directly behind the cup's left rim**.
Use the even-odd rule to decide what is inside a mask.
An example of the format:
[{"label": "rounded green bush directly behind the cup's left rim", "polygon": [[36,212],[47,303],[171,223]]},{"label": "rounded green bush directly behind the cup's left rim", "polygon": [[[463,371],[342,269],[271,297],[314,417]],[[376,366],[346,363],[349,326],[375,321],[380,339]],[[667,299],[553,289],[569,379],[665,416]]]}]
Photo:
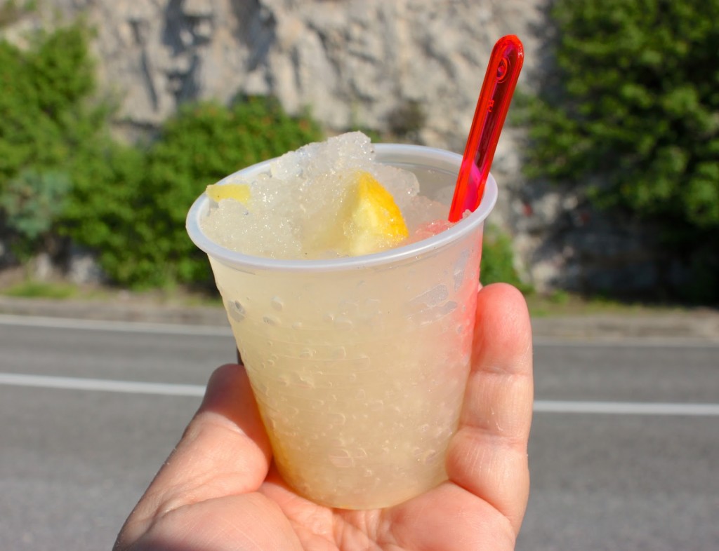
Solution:
[{"label": "rounded green bush directly behind the cup's left rim", "polygon": [[288,116],[272,98],[184,105],[147,151],[105,149],[102,166],[75,186],[70,235],[99,252],[116,283],[209,283],[206,256],[185,230],[192,202],[223,176],[318,139],[311,118]]}]

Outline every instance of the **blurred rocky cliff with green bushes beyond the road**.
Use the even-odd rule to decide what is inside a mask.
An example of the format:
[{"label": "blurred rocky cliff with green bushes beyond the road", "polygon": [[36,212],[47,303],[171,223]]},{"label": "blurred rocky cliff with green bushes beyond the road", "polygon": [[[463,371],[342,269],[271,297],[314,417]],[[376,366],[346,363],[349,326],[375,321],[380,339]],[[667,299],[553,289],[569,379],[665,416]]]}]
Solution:
[{"label": "blurred rocky cliff with green bushes beyond the road", "polygon": [[0,289],[206,290],[207,184],[352,129],[462,153],[517,34],[485,282],[715,304],[719,8],[670,4],[4,0]]}]

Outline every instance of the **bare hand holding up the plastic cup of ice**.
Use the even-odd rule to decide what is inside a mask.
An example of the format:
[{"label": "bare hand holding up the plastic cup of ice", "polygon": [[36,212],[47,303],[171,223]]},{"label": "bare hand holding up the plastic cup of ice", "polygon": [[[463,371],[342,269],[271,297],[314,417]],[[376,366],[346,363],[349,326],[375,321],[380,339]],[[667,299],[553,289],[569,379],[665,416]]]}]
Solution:
[{"label": "bare hand holding up the plastic cup of ice", "polygon": [[394,507],[348,511],[284,484],[244,369],[224,365],[114,550],[512,550],[528,500],[532,401],[526,303],[513,287],[487,286],[449,481]]}]

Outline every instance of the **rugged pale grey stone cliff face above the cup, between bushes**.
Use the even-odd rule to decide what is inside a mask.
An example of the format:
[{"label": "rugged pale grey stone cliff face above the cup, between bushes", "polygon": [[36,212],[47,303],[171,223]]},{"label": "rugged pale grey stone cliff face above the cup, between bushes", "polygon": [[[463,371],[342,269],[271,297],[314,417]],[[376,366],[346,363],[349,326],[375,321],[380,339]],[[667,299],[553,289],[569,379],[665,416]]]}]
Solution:
[{"label": "rugged pale grey stone cliff face above the cup, between bushes", "polygon": [[[160,123],[183,100],[272,94],[329,128],[386,129],[421,105],[424,143],[462,151],[490,50],[537,0],[55,0],[98,28],[120,116]],[[530,50],[531,53],[531,50]],[[531,67],[535,60],[527,56]]]}]

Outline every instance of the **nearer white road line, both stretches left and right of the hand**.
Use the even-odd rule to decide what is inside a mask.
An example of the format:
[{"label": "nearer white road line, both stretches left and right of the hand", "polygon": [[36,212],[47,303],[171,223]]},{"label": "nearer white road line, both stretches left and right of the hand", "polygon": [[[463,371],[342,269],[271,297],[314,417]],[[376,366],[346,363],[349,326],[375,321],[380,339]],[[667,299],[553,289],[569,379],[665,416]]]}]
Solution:
[{"label": "nearer white road line, both stretches left and right of the hand", "polygon": [[[93,390],[101,392],[125,392],[129,394],[154,394],[165,396],[203,396],[203,385],[175,385],[160,382],[117,381],[85,379],[80,377],[50,377],[47,375],[23,375],[0,373],[0,385],[40,387],[66,390]],[[700,417],[719,416],[719,404],[677,404],[661,402],[572,402],[562,400],[536,400],[536,413],[592,413],[613,415],[689,415]]]}]

